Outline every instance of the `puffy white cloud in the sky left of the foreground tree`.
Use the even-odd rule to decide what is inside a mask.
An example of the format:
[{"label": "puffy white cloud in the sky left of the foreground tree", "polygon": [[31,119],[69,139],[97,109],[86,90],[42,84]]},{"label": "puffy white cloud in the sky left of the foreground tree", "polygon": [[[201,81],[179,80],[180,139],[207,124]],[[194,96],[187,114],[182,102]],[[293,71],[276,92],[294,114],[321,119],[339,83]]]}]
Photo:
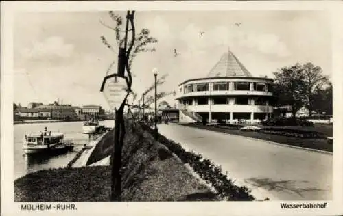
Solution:
[{"label": "puffy white cloud in the sky left of the foreground tree", "polygon": [[27,59],[64,59],[71,57],[73,51],[73,44],[66,44],[62,37],[52,36],[23,49],[21,55]]}]

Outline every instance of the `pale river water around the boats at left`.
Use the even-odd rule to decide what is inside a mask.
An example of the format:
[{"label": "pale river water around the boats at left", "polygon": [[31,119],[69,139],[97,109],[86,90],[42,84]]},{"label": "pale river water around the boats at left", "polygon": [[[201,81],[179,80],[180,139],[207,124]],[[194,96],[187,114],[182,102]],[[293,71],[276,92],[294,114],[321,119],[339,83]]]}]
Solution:
[{"label": "pale river water around the boats at left", "polygon": [[[14,125],[14,179],[25,176],[30,172],[48,170],[50,168],[65,167],[75,154],[82,149],[88,141],[88,135],[82,133],[83,122],[54,122]],[[100,121],[99,125],[114,126],[114,120]],[[23,137],[25,133],[39,133],[47,126],[48,131],[64,133],[65,140],[72,140],[74,150],[58,155],[27,155],[23,152]]]}]

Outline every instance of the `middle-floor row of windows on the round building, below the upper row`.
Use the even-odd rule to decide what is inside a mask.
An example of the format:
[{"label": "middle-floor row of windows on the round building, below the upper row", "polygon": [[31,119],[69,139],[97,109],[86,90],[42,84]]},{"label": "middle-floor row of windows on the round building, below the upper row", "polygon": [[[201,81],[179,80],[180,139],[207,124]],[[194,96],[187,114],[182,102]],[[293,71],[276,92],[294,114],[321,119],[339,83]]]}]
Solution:
[{"label": "middle-floor row of windows on the round building, below the upper row", "polygon": [[[213,98],[213,105],[228,105],[230,98]],[[193,100],[183,100],[183,105],[193,105]],[[195,99],[196,105],[208,105],[209,99],[208,98],[198,98]],[[235,105],[252,105],[252,100],[249,100],[249,98],[234,98],[234,104]],[[267,105],[267,100],[263,98],[258,98],[254,101],[254,105]]]}]

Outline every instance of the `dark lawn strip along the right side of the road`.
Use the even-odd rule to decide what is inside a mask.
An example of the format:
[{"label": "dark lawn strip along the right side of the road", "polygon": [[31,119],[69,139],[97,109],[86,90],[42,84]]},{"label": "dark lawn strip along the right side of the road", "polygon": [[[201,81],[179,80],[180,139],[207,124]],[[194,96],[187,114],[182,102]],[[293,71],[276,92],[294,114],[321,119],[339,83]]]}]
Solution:
[{"label": "dark lawn strip along the right side of the road", "polygon": [[[299,137],[286,137],[282,135],[273,135],[273,134],[267,134],[267,133],[259,133],[259,132],[253,132],[253,131],[239,131],[237,129],[229,129],[225,126],[205,126],[202,124],[182,124],[184,126],[192,126],[196,127],[198,129],[206,129],[211,131],[217,131],[222,133],[228,133],[233,135],[241,135],[244,137],[251,137],[255,139],[262,139],[265,141],[273,141],[280,144],[287,144],[289,146],[298,146],[303,148],[311,148],[316,150],[323,150],[327,152],[333,152],[333,146],[327,143],[326,139],[305,139],[305,138],[299,138]],[[268,127],[270,128],[270,127]],[[280,127],[276,127],[280,128]],[[286,126],[287,129],[304,129],[304,127],[289,127]],[[314,130],[321,133],[324,133],[327,136],[332,136],[332,127],[327,126],[316,126],[316,127],[306,127],[306,130]]]}]

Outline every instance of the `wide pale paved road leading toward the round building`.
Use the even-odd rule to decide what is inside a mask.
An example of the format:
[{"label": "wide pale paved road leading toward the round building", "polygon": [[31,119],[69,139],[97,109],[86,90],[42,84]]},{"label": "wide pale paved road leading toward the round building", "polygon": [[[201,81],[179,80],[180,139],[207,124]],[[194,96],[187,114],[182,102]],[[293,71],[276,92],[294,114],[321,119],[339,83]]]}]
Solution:
[{"label": "wide pale paved road leading toward the round building", "polygon": [[[331,200],[332,155],[178,124],[158,131],[222,165],[228,176],[271,200]],[[255,195],[253,193],[253,195]],[[265,197],[265,196],[264,196]]]}]

